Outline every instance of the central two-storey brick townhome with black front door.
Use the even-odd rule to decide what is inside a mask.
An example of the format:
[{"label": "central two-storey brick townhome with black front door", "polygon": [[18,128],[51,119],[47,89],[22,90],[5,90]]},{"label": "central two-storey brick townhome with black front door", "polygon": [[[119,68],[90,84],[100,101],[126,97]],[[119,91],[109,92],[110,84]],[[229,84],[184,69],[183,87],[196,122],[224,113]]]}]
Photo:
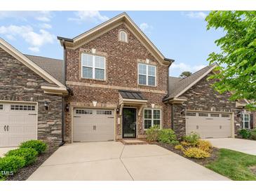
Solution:
[{"label": "central two-storey brick townhome with black front door", "polygon": [[126,15],[74,39],[65,49],[67,142],[142,138],[152,125],[170,127],[166,59]]}]

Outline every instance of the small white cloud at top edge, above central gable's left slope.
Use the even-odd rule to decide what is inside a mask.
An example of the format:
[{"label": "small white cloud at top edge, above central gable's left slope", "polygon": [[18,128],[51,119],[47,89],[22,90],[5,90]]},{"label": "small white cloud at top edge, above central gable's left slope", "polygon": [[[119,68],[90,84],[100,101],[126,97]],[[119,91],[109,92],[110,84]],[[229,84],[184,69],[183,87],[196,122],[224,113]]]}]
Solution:
[{"label": "small white cloud at top edge, above central gable's left slope", "polygon": [[104,22],[109,20],[105,15],[101,15],[99,11],[76,11],[76,18],[69,18],[76,22]]}]

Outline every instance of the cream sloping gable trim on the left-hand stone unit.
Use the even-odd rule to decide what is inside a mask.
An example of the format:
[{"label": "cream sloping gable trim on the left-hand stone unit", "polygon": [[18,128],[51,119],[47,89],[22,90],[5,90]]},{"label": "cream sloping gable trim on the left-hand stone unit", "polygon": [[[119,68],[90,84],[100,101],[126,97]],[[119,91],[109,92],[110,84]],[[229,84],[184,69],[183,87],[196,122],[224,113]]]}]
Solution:
[{"label": "cream sloping gable trim on the left-hand stone unit", "polygon": [[22,64],[25,64],[29,69],[34,71],[36,74],[44,78],[48,83],[52,83],[55,85],[58,85],[60,88],[65,88],[65,85],[60,83],[55,77],[48,74],[48,72],[44,71],[39,65],[35,64],[32,60],[30,60],[28,57],[20,53],[17,49],[15,49],[13,46],[11,46],[9,43],[4,41],[4,39],[0,38],[0,48],[4,49],[7,53],[15,57],[15,59],[22,62]]}]

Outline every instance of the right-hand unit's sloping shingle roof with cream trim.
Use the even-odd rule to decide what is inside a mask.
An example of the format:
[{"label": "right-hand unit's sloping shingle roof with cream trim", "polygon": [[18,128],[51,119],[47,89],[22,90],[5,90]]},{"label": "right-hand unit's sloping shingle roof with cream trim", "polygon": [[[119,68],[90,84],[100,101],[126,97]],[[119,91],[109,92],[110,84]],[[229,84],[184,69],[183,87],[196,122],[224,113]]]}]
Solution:
[{"label": "right-hand unit's sloping shingle roof with cream trim", "polygon": [[203,77],[209,74],[210,71],[213,71],[215,67],[216,64],[209,65],[207,67],[204,67],[203,69],[200,69],[199,71],[196,71],[194,74],[191,74],[191,76],[188,76],[186,78],[169,76],[170,94],[164,101],[179,97],[184,92],[189,90],[189,88],[195,85],[198,81],[200,81]]}]

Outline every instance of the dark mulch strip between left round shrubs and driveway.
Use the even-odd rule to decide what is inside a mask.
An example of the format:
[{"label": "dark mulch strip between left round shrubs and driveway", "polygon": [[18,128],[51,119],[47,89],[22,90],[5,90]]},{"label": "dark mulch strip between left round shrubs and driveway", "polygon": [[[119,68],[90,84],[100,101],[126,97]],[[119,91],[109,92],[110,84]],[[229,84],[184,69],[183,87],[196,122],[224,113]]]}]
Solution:
[{"label": "dark mulch strip between left round shrubs and driveway", "polygon": [[18,172],[13,174],[13,176],[9,176],[6,181],[25,181],[29,176],[37,170],[40,165],[43,164],[43,162],[46,161],[56,150],[58,149],[58,146],[52,146],[48,147],[48,149],[39,155],[36,158],[36,162],[33,163],[32,165],[28,165],[26,167],[22,167]]}]

